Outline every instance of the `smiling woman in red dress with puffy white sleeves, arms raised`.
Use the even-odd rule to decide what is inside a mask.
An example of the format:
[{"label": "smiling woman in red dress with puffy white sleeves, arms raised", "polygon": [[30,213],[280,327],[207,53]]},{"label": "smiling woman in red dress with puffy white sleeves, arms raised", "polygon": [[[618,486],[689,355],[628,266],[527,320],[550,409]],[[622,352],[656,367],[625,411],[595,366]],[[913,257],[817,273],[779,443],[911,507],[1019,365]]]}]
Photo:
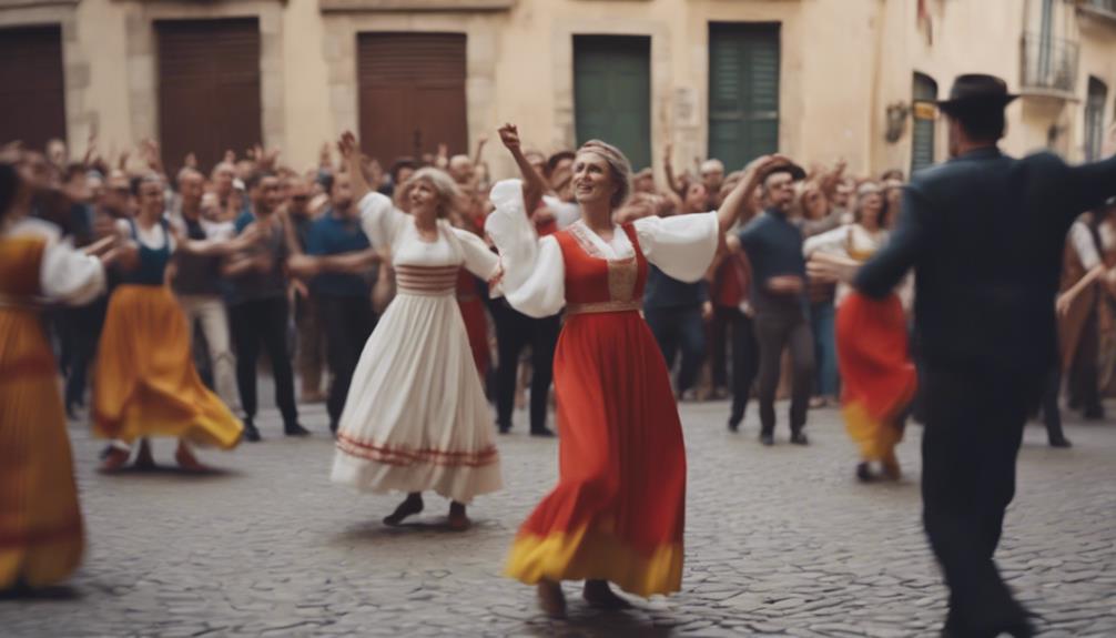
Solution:
[{"label": "smiling woman in red dress with puffy white sleeves, arms raised", "polygon": [[532,317],[566,308],[555,356],[558,485],[520,529],[508,574],[538,584],[551,616],[565,613],[562,580],[584,579],[586,601],[599,607],[627,606],[608,582],[644,597],[677,591],[686,462],[666,365],[639,315],[647,264],[700,279],[754,177],[786,160],[753,163],[720,212],[620,226],[613,213],[631,191],[631,165],[615,147],[588,142],[574,165],[581,219],[538,239],[526,211],[535,210],[543,183],[516,127],[500,136],[525,177],[492,190],[487,230],[504,268],[500,289]]}]

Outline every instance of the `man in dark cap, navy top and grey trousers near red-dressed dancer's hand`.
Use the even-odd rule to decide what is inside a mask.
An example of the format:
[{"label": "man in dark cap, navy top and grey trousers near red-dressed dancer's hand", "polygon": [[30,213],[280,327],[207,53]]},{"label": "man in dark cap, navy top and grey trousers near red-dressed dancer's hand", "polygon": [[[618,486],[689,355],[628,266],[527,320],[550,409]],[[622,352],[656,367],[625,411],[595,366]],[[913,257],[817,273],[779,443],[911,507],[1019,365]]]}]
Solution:
[{"label": "man in dark cap, navy top and grey trousers near red-dressed dancer's hand", "polygon": [[775,396],[782,352],[788,348],[793,366],[790,442],[808,443],[802,429],[814,377],[814,337],[807,317],[802,231],[787,219],[795,199],[795,182],[805,176],[806,172],[796,164],[783,163],[770,168],[762,178],[766,210],[738,235],[740,248],[751,262],[754,281],[751,301],[760,350],[760,442],[763,445],[775,443]]}]

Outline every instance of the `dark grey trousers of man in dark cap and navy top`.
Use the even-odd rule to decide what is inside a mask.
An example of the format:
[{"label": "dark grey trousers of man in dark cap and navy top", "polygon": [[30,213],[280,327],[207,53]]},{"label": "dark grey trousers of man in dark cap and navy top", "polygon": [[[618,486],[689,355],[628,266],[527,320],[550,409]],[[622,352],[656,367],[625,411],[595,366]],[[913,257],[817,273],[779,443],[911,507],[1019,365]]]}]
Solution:
[{"label": "dark grey trousers of man in dark cap and navy top", "polygon": [[760,351],[760,426],[762,434],[775,433],[775,395],[779,389],[782,352],[790,349],[790,432],[806,426],[810,385],[814,381],[814,336],[802,315],[760,315],[756,318],[756,341]]}]

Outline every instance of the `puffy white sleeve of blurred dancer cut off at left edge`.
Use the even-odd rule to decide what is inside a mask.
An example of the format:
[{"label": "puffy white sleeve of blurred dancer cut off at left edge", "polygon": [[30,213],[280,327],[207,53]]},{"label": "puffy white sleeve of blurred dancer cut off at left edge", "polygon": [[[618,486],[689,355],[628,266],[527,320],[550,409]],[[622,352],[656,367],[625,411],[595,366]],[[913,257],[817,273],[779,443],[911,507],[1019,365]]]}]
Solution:
[{"label": "puffy white sleeve of blurred dancer cut off at left edge", "polygon": [[39,289],[42,296],[69,306],[89,303],[105,291],[105,267],[100,260],[74,249],[61,240],[58,229],[39,220],[25,220],[18,234],[46,238],[39,263]]}]

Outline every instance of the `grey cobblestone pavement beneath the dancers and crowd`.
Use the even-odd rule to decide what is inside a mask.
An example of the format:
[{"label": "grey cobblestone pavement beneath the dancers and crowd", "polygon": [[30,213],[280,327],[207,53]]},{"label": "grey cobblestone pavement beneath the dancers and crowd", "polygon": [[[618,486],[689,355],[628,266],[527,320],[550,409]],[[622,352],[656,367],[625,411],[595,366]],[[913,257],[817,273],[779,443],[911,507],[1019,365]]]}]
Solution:
[{"label": "grey cobblestone pavement beneath the dancers and crowd", "polygon": [[[533,588],[501,577],[504,553],[552,485],[556,444],[501,437],[507,487],[442,526],[427,496],[415,524],[379,523],[397,496],[328,481],[321,406],[315,435],[288,439],[278,415],[263,443],[203,458],[223,471],[105,476],[100,444],[71,424],[88,552],[68,587],[0,601],[0,635],[22,636],[935,636],[944,589],[920,524],[918,428],[901,484],[860,485],[836,410],[811,413],[812,445],[763,448],[756,415],[741,434],[723,403],[685,404],[690,462],[683,591],[629,612],[570,618],[536,610]],[[786,414],[780,409],[780,418]],[[1000,566],[1043,616],[1046,636],[1116,636],[1116,426],[1070,420],[1075,447],[1028,428]],[[157,441],[170,464],[173,444]]]}]

